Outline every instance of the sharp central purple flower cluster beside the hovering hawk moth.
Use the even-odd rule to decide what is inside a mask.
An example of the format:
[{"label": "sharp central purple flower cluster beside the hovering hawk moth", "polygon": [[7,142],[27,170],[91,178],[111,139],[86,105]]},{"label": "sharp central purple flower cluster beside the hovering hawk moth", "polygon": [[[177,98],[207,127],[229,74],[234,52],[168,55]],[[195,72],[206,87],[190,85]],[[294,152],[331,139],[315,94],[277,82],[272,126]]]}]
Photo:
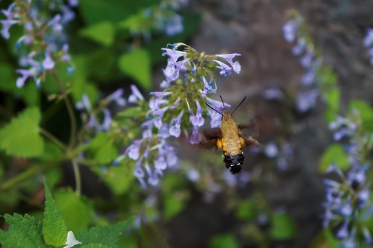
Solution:
[{"label": "sharp central purple flower cluster beside the hovering hawk moth", "polygon": [[[199,130],[204,125],[206,116],[211,117],[211,127],[220,126],[220,114],[204,104],[209,103],[219,111],[224,107],[221,101],[208,96],[216,89],[213,78],[215,68],[225,76],[230,75],[232,70],[236,73],[241,70],[239,62],[233,61],[235,56],[240,56],[237,53],[199,54],[183,43],[175,43],[172,48],[162,50],[163,55],[168,56],[167,67],[163,70],[165,79],[160,84],[164,91],[150,93],[147,120],[141,125],[142,137],[133,141],[115,161],[118,163],[126,156],[136,161],[134,175],[142,187],[147,187],[148,184],[158,185],[164,169],[177,165],[176,149],[171,145],[174,138],[180,137],[182,133],[189,136],[187,130],[191,128],[189,142],[200,143],[202,134]],[[218,58],[224,59],[227,64],[218,61]],[[183,76],[182,79],[180,75]],[[135,103],[143,99],[140,92],[132,88],[128,101]],[[230,105],[226,104],[226,107]]]}]

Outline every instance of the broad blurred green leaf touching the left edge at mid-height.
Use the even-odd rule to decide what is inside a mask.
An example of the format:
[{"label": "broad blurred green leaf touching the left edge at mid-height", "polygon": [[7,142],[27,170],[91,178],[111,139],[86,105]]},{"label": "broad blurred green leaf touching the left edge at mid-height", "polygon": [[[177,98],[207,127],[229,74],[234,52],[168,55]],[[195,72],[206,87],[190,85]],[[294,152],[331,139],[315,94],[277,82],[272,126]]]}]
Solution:
[{"label": "broad blurred green leaf touching the left edge at mid-height", "polygon": [[39,135],[41,113],[30,107],[0,130],[0,149],[6,154],[20,157],[39,156],[44,150],[43,138]]}]

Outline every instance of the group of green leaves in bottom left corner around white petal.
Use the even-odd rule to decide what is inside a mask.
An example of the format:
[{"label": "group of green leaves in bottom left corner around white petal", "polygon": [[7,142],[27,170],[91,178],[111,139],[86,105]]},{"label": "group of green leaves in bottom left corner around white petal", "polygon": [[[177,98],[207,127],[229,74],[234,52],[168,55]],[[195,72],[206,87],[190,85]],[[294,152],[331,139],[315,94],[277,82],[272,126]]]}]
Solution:
[{"label": "group of green leaves in bottom left corner around white petal", "polygon": [[[36,220],[28,214],[25,216],[17,213],[13,216],[6,214],[4,218],[10,226],[8,231],[0,229],[0,243],[3,247],[32,248],[44,247],[45,244],[64,247],[67,240],[67,228],[63,216],[67,217],[69,228],[81,229],[82,225],[87,225],[93,214],[91,203],[71,191],[56,192],[56,199],[63,213],[61,215],[45,180],[44,185],[46,198],[44,220]],[[76,218],[76,220],[72,220],[72,218]],[[129,219],[116,225],[98,226],[92,227],[89,231],[80,231],[76,235],[76,240],[82,244],[76,245],[76,247],[117,247],[121,232],[132,221],[133,219]],[[83,222],[83,224],[78,222]]]}]

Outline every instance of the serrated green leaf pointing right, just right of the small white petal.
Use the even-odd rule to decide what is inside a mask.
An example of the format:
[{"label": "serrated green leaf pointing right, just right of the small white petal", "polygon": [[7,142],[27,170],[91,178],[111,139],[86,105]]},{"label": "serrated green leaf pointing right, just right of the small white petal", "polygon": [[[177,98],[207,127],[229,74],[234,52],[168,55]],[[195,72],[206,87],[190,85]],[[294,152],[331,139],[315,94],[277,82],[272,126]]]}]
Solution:
[{"label": "serrated green leaf pointing right, just right of the small white petal", "polygon": [[117,247],[122,231],[132,222],[133,219],[109,226],[97,226],[76,234],[76,239],[82,244],[101,244],[108,247]]}]

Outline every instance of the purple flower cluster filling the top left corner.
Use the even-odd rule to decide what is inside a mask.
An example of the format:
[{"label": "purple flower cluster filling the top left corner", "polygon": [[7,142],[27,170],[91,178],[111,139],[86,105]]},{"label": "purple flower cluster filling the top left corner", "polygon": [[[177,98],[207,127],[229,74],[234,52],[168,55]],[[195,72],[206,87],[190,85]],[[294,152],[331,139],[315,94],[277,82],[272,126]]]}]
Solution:
[{"label": "purple flower cluster filling the top left corner", "polygon": [[[25,81],[34,79],[36,87],[41,87],[41,81],[45,77],[45,73],[54,69],[56,62],[63,61],[69,63],[67,73],[74,72],[70,55],[67,53],[69,46],[67,45],[66,36],[63,33],[63,26],[74,19],[75,14],[71,7],[77,5],[78,1],[69,1],[68,5],[62,3],[50,3],[50,12],[62,12],[56,14],[50,19],[45,18],[39,10],[39,5],[34,1],[29,1],[30,4],[22,1],[10,4],[7,10],[1,10],[6,19],[1,20],[3,25],[1,35],[5,39],[10,38],[10,27],[14,24],[23,25],[24,34],[19,37],[15,47],[16,52],[20,53],[23,58],[20,60],[20,65],[27,69],[16,70],[21,74],[17,79],[17,87],[23,87]],[[39,45],[45,44],[45,45]],[[22,45],[25,49],[19,50]],[[22,55],[25,50],[31,51],[29,54]],[[60,52],[62,51],[62,52]]]}]

